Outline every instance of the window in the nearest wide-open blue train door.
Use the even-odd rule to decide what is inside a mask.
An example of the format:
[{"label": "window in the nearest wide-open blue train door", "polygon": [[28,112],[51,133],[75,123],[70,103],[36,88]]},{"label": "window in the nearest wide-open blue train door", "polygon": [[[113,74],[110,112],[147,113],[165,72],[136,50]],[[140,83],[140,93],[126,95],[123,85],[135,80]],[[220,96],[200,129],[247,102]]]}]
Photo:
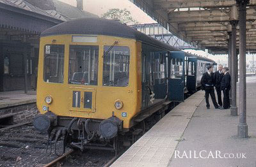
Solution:
[{"label": "window in the nearest wide-open blue train door", "polygon": [[183,61],[180,59],[171,59],[171,78],[181,79],[183,75]]}]

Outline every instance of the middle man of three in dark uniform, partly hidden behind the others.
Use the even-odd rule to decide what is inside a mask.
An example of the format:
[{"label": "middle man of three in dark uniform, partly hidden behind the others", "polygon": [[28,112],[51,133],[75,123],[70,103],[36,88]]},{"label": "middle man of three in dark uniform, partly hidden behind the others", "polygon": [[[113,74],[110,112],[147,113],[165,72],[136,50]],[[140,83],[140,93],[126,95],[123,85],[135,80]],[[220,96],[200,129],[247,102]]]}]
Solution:
[{"label": "middle man of three in dark uniform, partly hidden behind the others", "polygon": [[220,108],[222,108],[222,99],[221,99],[221,90],[220,90],[220,82],[221,79],[223,77],[223,73],[222,73],[222,65],[218,66],[218,71],[216,71],[214,73],[214,82],[215,82],[215,89],[217,92],[217,96],[218,96],[218,104],[220,105]]}]

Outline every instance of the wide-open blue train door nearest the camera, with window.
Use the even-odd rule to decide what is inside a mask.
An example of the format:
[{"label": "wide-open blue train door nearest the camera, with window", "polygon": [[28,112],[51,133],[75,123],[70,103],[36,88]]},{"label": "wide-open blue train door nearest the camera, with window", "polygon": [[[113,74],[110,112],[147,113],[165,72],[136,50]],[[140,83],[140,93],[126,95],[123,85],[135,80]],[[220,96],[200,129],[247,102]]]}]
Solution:
[{"label": "wide-open blue train door nearest the camera, with window", "polygon": [[168,99],[170,101],[184,101],[184,52],[170,52],[168,65]]}]

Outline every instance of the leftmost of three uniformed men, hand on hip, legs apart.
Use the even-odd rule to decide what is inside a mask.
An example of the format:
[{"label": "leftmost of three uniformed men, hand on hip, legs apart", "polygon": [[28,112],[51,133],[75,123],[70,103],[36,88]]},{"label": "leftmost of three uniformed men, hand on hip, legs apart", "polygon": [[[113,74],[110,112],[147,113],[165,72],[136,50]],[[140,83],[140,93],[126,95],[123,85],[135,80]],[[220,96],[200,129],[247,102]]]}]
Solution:
[{"label": "leftmost of three uniformed men, hand on hip, legs apart", "polygon": [[205,91],[205,101],[207,109],[210,109],[209,104],[209,94],[211,95],[212,103],[215,108],[220,108],[216,102],[215,93],[214,93],[214,74],[212,73],[212,66],[207,67],[206,71],[201,78],[202,89]]}]

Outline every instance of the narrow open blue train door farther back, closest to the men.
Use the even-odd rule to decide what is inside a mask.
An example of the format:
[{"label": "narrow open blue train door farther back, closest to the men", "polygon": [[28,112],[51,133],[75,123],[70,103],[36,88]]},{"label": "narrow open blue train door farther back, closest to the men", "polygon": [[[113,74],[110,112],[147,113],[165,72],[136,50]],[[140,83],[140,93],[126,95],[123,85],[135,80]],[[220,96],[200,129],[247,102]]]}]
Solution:
[{"label": "narrow open blue train door farther back, closest to the men", "polygon": [[196,91],[196,57],[188,57],[187,80],[188,91]]}]

